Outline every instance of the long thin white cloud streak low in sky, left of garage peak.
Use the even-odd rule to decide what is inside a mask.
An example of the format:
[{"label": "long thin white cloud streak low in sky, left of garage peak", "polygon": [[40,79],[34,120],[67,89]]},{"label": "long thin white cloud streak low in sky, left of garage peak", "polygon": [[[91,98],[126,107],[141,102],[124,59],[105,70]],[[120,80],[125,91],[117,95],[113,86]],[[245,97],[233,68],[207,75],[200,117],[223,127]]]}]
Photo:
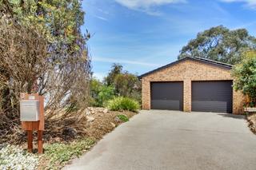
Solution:
[{"label": "long thin white cloud streak low in sky, left of garage peak", "polygon": [[160,66],[158,64],[146,63],[146,62],[143,62],[143,61],[122,60],[122,59],[116,59],[116,58],[110,58],[110,57],[93,57],[93,61],[120,63],[120,64],[131,64],[131,65],[144,65],[144,66]]}]

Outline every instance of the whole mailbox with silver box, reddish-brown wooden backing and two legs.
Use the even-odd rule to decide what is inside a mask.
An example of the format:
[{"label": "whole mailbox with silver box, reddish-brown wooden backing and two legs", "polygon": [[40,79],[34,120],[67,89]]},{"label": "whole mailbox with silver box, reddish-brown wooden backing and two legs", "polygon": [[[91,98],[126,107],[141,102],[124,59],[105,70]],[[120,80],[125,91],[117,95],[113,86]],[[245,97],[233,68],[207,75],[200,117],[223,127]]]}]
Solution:
[{"label": "whole mailbox with silver box, reddish-brown wooden backing and two legs", "polygon": [[38,131],[38,153],[42,153],[42,131],[44,130],[44,97],[38,93],[21,93],[20,119],[22,129],[26,130],[28,151],[33,150],[33,131]]}]

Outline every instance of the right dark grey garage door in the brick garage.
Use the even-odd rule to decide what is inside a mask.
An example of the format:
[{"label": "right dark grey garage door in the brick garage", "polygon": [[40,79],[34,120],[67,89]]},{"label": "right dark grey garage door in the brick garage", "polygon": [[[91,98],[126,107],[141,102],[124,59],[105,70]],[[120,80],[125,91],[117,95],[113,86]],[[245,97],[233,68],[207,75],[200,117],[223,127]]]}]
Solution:
[{"label": "right dark grey garage door in the brick garage", "polygon": [[192,111],[232,113],[232,81],[192,81]]}]

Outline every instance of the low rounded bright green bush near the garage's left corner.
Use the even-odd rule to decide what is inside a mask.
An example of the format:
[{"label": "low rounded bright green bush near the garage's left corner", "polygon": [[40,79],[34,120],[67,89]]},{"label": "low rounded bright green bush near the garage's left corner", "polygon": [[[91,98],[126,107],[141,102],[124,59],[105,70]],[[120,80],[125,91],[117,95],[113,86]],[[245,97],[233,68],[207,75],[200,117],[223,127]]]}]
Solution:
[{"label": "low rounded bright green bush near the garage's left corner", "polygon": [[115,97],[113,100],[108,102],[107,107],[114,111],[128,110],[132,112],[137,112],[139,109],[138,101],[128,97]]}]

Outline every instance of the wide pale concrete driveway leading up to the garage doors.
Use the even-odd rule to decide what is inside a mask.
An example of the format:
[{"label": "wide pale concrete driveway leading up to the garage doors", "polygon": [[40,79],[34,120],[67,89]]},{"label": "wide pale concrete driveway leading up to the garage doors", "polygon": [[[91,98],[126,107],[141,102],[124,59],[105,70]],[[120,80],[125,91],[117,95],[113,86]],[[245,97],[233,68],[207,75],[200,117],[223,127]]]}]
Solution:
[{"label": "wide pale concrete driveway leading up to the garage doors", "polygon": [[142,111],[65,169],[256,169],[243,116]]}]

